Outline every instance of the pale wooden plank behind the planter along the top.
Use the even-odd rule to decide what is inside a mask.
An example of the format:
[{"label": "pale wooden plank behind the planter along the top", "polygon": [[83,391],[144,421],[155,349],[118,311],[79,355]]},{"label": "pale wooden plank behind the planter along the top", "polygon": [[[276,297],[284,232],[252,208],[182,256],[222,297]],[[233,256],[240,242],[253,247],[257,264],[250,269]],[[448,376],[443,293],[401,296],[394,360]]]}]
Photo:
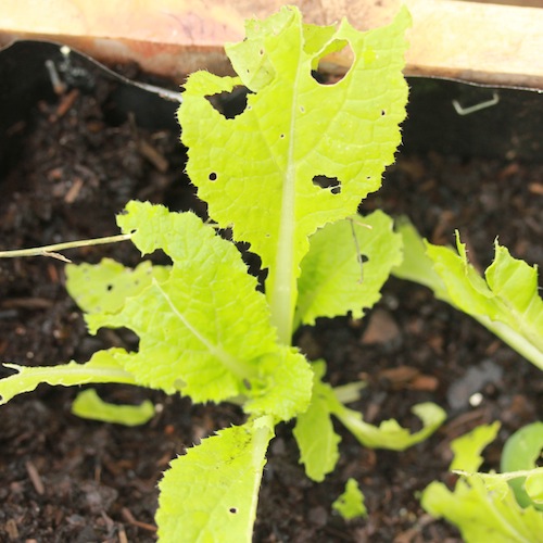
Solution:
[{"label": "pale wooden plank behind the planter along the top", "polygon": [[[308,22],[346,16],[359,29],[390,22],[405,3],[414,20],[407,75],[543,89],[543,9],[455,0],[2,0],[0,42],[53,39],[179,79],[198,68],[225,74],[223,43],[242,39],[245,18],[286,3]],[[332,60],[334,71],[349,65]]]}]

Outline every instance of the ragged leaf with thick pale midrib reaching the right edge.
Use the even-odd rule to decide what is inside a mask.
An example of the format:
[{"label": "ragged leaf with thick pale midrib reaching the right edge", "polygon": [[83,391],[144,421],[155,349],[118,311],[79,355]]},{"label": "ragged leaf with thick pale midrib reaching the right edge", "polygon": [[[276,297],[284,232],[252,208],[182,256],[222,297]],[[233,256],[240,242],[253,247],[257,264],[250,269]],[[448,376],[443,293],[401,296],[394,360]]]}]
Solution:
[{"label": "ragged leaf with thick pale midrib reaching the right edge", "polygon": [[536,266],[512,257],[496,241],[494,262],[481,277],[469,264],[458,235],[457,251],[425,242],[424,256],[416,230],[403,224],[400,232],[405,258],[394,275],[433,289],[438,298],[476,318],[543,369],[543,300]]}]

